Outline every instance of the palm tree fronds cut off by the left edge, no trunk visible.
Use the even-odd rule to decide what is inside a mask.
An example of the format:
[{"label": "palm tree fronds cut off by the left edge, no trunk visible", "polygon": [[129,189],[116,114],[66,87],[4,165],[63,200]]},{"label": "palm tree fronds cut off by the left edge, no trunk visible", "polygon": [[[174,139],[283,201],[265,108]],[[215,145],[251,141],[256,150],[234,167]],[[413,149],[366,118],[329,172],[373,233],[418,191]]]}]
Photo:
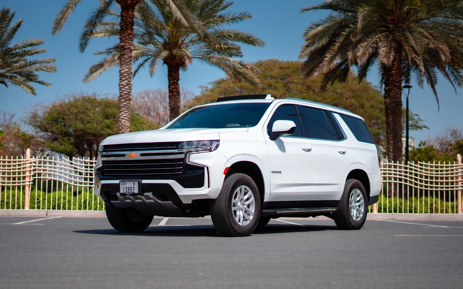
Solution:
[{"label": "palm tree fronds cut off by the left edge, no trunk visible", "polygon": [[40,80],[37,72],[56,72],[53,63],[55,58],[28,60],[27,57],[44,53],[45,49],[37,46],[44,44],[42,39],[27,39],[10,46],[14,35],[21,26],[23,19],[19,19],[11,27],[14,13],[9,8],[0,10],[0,84],[22,87],[25,92],[36,95],[33,83],[50,86],[51,84]]}]

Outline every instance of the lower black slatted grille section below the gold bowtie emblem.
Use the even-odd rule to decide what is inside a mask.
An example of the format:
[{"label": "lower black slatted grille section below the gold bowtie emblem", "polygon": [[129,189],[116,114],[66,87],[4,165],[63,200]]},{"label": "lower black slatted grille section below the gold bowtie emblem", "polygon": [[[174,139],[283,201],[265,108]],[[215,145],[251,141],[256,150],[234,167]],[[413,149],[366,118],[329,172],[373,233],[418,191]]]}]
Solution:
[{"label": "lower black slatted grille section below the gold bowtie emblem", "polygon": [[102,176],[112,177],[173,177],[185,172],[183,155],[175,159],[103,160]]}]

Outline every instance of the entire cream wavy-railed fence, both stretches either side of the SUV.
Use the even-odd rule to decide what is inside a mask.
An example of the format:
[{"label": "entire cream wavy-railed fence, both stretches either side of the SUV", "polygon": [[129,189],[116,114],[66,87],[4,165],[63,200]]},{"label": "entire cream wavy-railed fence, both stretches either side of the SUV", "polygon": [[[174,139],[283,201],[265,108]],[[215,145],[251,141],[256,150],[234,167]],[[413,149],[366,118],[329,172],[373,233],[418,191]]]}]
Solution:
[{"label": "entire cream wavy-railed fence, both stretches either side of the SUV", "polygon": [[[460,213],[461,156],[457,162],[381,164],[379,213]],[[94,195],[88,158],[0,157],[0,209],[104,210]]]}]

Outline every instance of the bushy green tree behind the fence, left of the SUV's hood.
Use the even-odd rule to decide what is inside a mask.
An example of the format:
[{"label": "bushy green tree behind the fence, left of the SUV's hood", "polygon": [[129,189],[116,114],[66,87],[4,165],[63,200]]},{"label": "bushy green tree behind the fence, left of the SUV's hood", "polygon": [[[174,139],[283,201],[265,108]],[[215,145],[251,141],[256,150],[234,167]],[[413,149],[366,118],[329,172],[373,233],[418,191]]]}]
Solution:
[{"label": "bushy green tree behind the fence, left of the SUV's hood", "polygon": [[[133,112],[132,112],[133,113]],[[45,147],[69,158],[93,158],[100,142],[118,132],[118,101],[97,94],[70,94],[51,104],[39,104],[26,112],[25,123],[44,140]],[[131,131],[155,129],[133,113]]]}]

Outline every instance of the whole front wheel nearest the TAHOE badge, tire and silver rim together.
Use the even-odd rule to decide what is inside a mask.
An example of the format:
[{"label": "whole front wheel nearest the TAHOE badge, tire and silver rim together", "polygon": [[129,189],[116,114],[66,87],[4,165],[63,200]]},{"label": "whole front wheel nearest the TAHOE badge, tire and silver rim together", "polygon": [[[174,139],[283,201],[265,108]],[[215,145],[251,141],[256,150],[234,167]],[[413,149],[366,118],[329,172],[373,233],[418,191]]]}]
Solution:
[{"label": "whole front wheel nearest the TAHOE badge, tire and silver rim together", "polygon": [[212,202],[211,218],[220,234],[249,236],[257,227],[260,210],[256,183],[248,175],[234,173],[225,178],[219,196]]}]

